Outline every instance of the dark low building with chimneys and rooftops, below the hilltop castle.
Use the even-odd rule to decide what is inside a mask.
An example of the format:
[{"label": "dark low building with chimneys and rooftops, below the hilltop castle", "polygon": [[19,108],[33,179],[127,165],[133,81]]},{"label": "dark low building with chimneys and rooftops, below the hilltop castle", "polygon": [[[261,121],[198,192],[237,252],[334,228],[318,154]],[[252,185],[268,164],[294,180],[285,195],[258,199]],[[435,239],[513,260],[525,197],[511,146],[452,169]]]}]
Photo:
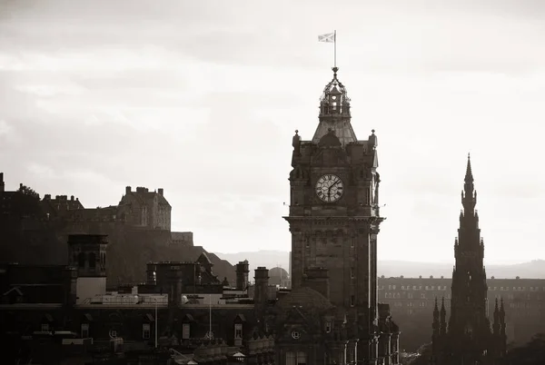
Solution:
[{"label": "dark low building with chimneys and rooftops, below the hilltop castle", "polygon": [[[118,358],[148,364],[168,359],[203,365],[273,362],[272,328],[265,331],[260,325],[263,308],[276,300],[263,275],[267,269],[256,270],[252,297],[247,287],[223,288],[206,255],[195,262],[150,262],[149,282],[107,292],[100,285],[107,244],[104,235],[72,235],[69,265],[0,267],[0,327],[5,330],[0,339],[9,345],[3,354],[7,363]],[[247,262],[237,275],[247,286]],[[222,288],[235,291],[230,303],[184,301],[188,291],[223,298]],[[84,298],[91,291],[93,297]]]}]

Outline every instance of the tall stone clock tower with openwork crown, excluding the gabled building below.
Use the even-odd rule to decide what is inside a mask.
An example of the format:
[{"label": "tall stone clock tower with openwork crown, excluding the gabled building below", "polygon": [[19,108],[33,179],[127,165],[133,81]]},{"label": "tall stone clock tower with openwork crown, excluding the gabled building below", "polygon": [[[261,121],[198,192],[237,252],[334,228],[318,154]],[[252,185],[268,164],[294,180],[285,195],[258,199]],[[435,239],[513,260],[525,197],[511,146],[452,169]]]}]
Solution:
[{"label": "tall stone clock tower with openwork crown, excluding the gabled building below", "polygon": [[[290,173],[292,291],[327,277],[324,296],[346,329],[347,361],[375,364],[378,354],[377,236],[379,212],[377,137],[358,140],[351,104],[337,67],[320,99],[311,141],[293,136]],[[317,284],[316,284],[317,285]],[[352,340],[351,340],[352,339]],[[357,343],[357,345],[356,345]]]}]

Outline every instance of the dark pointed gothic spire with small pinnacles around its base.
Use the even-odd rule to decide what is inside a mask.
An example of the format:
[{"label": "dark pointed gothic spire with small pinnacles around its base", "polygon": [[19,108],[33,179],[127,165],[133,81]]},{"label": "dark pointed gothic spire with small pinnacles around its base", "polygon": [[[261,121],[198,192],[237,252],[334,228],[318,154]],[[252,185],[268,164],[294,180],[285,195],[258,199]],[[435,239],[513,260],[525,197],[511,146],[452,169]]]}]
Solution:
[{"label": "dark pointed gothic spire with small pinnacles around its base", "polygon": [[[479,228],[479,214],[475,210],[477,192],[473,185],[469,155],[461,203],[460,228],[454,242],[456,263],[452,271],[451,316],[448,330],[444,328],[446,323],[443,321],[439,327],[434,325],[434,360],[436,364],[449,365],[495,364],[505,347],[500,345],[500,334],[490,330],[488,286],[483,264],[484,242]],[[500,316],[496,317],[500,321]],[[495,326],[504,328],[502,317],[501,321]],[[437,312],[434,313],[434,323],[437,323]]]}]

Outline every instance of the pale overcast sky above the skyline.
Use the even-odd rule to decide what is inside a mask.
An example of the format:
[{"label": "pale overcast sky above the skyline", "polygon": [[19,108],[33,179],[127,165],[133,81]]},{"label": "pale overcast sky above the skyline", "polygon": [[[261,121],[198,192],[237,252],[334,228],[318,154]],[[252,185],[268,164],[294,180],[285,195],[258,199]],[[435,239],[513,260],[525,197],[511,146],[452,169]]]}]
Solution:
[{"label": "pale overcast sky above the skyline", "polygon": [[290,250],[292,135],[339,77],[379,138],[379,258],[453,261],[467,153],[485,261],[545,259],[542,0],[0,0],[0,171],[87,208],[163,187],[212,252]]}]

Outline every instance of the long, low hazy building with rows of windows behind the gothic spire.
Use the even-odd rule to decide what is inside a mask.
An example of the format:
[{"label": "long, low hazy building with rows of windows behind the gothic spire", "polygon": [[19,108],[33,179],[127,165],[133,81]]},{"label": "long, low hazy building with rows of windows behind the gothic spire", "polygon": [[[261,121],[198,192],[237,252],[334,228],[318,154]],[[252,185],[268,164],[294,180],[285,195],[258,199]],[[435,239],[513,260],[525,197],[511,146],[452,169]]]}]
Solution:
[{"label": "long, low hazy building with rows of windows behind the gothic spire", "polygon": [[[417,350],[430,340],[430,321],[435,299],[445,298],[451,311],[451,278],[422,276],[379,277],[379,300],[389,303],[391,314],[407,333],[402,348]],[[522,345],[532,335],[545,332],[545,279],[487,279],[487,313],[493,314],[496,300],[503,299],[508,342]]]}]

